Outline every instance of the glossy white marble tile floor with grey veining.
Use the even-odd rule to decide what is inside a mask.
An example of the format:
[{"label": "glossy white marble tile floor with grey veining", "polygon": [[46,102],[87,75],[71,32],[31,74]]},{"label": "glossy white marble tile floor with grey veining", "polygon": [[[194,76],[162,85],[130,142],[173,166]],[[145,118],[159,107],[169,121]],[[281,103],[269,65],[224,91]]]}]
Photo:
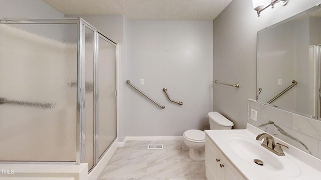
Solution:
[{"label": "glossy white marble tile floor with grey veining", "polygon": [[[164,149],[147,149],[164,144]],[[206,180],[205,161],[189,157],[183,140],[127,141],[116,150],[98,180]]]}]

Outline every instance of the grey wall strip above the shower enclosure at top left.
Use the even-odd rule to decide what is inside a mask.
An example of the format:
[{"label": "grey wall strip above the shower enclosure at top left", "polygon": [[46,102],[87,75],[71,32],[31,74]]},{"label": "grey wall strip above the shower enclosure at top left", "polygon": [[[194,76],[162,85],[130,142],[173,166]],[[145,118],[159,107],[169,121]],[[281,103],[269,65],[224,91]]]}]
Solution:
[{"label": "grey wall strip above the shower enclosure at top left", "polygon": [[64,14],[43,0],[0,0],[0,17],[53,18]]}]

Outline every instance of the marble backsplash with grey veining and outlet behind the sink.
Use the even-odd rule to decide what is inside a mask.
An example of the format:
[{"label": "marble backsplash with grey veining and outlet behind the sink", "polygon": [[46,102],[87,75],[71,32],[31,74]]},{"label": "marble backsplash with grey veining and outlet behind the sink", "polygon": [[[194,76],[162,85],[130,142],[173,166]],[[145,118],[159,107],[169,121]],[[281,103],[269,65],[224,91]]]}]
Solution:
[{"label": "marble backsplash with grey veining and outlet behind the sink", "polygon": [[[257,121],[250,119],[257,111]],[[279,139],[321,158],[321,121],[261,104],[249,99],[248,122]]]}]

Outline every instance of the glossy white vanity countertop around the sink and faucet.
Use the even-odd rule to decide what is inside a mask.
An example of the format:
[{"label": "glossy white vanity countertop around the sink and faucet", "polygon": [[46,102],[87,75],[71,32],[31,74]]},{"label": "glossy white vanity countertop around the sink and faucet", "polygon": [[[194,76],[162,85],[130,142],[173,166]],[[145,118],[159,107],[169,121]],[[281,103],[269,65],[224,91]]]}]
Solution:
[{"label": "glossy white vanity countertop around the sink and faucet", "polygon": [[[255,139],[258,134],[266,132],[249,123],[247,123],[246,129],[205,130],[205,132],[223,154],[250,180],[321,179],[320,159],[273,136],[275,143],[279,142],[289,147],[288,149],[282,148],[285,156],[274,154],[261,146],[262,141]],[[245,138],[249,143],[254,144],[255,152],[260,151],[268,155],[267,161],[270,161],[272,165],[255,164],[250,158],[252,154],[246,154],[246,151],[242,152],[242,146],[236,143],[234,145],[232,141],[235,138]],[[250,159],[246,159],[246,157]]]}]

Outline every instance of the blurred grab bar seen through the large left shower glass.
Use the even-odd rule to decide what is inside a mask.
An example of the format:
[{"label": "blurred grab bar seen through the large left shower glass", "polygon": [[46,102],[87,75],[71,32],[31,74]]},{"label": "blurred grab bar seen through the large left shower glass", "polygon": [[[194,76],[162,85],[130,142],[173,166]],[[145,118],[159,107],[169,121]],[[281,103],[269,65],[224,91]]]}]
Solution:
[{"label": "blurred grab bar seen through the large left shower glass", "polygon": [[10,100],[10,99],[6,99],[5,97],[0,97],[0,104],[24,105],[24,106],[38,107],[38,108],[44,108],[44,109],[50,109],[55,107],[54,103]]}]

